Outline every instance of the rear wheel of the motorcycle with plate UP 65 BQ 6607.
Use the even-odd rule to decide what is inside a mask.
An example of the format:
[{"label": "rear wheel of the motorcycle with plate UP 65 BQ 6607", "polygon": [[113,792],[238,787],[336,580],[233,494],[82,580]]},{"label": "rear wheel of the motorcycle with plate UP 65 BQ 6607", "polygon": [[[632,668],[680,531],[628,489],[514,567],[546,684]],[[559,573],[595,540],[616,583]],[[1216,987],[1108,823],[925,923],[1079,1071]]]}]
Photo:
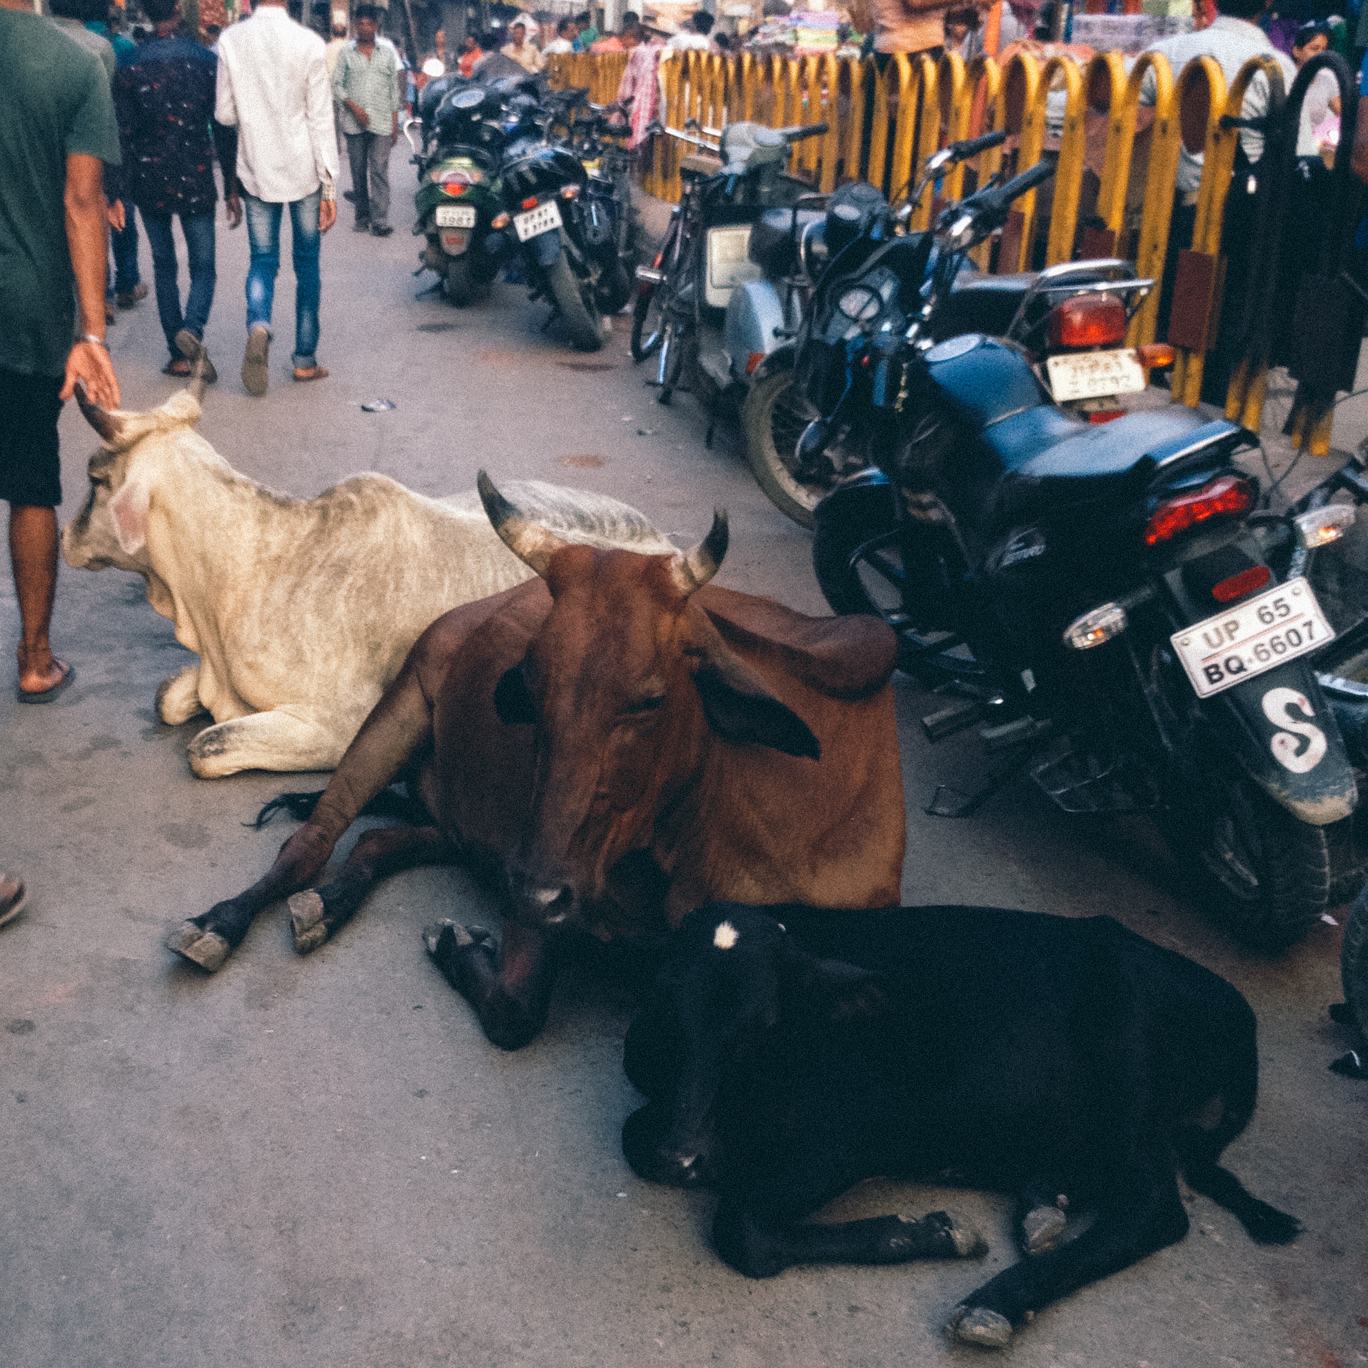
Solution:
[{"label": "rear wheel of the motorcycle with plate UP 65 BQ 6607", "polygon": [[1218,772],[1160,814],[1160,828],[1242,945],[1274,955],[1320,921],[1330,893],[1326,828],[1309,826],[1244,774]]}]

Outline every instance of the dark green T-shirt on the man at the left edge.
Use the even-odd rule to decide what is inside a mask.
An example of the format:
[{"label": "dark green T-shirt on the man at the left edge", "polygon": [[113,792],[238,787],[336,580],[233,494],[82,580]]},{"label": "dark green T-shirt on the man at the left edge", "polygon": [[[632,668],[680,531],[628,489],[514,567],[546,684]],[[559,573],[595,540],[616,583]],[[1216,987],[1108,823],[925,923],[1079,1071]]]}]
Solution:
[{"label": "dark green T-shirt on the man at the left edge", "polygon": [[37,14],[0,8],[0,369],[62,375],[75,334],[67,157],[119,164],[98,57]]}]

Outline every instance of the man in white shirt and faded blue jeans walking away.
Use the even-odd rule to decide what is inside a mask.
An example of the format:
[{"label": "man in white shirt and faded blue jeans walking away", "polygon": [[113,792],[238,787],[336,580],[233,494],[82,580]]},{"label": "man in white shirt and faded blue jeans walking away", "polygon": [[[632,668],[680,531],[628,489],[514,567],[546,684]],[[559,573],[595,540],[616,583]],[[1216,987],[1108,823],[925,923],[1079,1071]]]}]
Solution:
[{"label": "man in white shirt and faded blue jeans walking away", "polygon": [[[250,19],[219,38],[215,118],[238,129],[238,181],[246,194],[248,345],[242,383],[261,395],[269,380],[271,302],[280,269],[280,216],[290,211],[294,259],[294,378],[321,380],[319,235],[337,222],[338,145],[323,40],[297,25],[285,0],[259,0]],[[242,222],[228,196],[228,226]]]}]

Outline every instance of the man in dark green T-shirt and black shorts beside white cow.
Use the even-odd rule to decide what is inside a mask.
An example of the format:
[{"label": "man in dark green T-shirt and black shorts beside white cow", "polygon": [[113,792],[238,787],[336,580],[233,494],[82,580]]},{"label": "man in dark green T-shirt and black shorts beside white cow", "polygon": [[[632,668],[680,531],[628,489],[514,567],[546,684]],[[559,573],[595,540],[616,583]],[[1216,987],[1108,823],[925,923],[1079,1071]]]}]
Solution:
[{"label": "man in dark green T-shirt and black shorts beside white cow", "polygon": [[101,161],[119,164],[119,129],[98,57],[27,0],[0,0],[0,499],[10,505],[23,633],[18,696],[30,703],[74,679],[48,642],[62,502],[57,415],[78,380],[101,406],[119,406],[104,345]]}]

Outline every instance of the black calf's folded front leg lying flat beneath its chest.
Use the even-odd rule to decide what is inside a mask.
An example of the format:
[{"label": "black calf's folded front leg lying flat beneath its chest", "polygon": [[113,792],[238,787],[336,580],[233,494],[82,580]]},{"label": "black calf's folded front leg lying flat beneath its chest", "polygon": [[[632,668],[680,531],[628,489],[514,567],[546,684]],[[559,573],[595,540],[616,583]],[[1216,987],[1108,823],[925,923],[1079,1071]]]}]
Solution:
[{"label": "black calf's folded front leg lying flat beneath its chest", "polygon": [[988,1241],[963,1216],[944,1211],[921,1220],[871,1216],[833,1226],[766,1228],[725,1197],[713,1220],[713,1242],[722,1259],[748,1278],[770,1278],[791,1264],[903,1264],[988,1253]]}]

